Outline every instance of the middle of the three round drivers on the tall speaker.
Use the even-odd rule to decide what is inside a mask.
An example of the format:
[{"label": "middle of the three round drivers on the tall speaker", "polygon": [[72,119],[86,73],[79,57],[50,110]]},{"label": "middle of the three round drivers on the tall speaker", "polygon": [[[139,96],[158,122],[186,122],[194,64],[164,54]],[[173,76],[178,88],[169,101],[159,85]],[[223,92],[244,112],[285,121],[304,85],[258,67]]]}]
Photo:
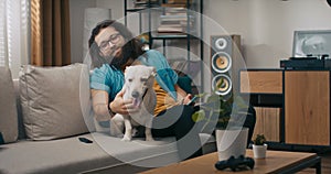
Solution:
[{"label": "middle of the three round drivers on the tall speaker", "polygon": [[212,67],[217,73],[225,73],[232,66],[232,59],[225,52],[215,53],[212,57]]}]

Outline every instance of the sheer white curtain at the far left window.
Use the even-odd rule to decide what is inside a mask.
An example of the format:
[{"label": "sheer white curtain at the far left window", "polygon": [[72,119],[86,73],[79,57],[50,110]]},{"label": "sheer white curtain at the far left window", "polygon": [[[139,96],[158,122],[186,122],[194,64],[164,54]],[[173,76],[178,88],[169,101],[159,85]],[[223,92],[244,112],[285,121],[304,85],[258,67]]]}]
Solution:
[{"label": "sheer white curtain at the far left window", "polygon": [[30,0],[0,0],[0,66],[19,76],[20,66],[28,64]]}]

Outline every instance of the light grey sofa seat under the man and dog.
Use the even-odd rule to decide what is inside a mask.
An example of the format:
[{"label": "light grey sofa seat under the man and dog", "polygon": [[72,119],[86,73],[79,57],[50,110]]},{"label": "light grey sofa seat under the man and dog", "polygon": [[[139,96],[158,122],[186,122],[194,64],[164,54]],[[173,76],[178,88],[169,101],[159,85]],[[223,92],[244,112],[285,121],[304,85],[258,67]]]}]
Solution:
[{"label": "light grey sofa seat under the man and dog", "polygon": [[[210,139],[207,134],[200,135],[202,142]],[[78,138],[93,142],[84,143]],[[214,139],[211,143],[215,144]],[[51,141],[22,140],[0,146],[0,156],[3,174],[137,173],[179,162],[174,137],[125,142],[99,132]]]}]

